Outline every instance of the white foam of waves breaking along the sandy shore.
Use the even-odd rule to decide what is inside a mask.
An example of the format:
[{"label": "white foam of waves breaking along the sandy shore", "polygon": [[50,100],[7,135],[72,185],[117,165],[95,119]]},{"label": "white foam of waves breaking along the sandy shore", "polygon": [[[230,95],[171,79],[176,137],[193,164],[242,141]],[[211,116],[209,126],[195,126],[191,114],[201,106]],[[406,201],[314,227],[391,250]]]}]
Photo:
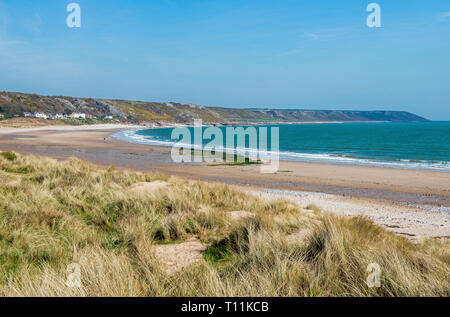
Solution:
[{"label": "white foam of waves breaking along the sandy shore", "polygon": [[[125,130],[113,134],[111,137],[137,144],[148,144],[148,145],[158,145],[172,147],[175,141],[163,141],[158,140],[149,135],[142,135],[137,133],[142,129],[138,130]],[[145,129],[147,130],[147,129]],[[180,144],[186,148],[197,149],[196,146],[191,144]],[[208,148],[204,148],[208,150]],[[236,153],[239,155],[250,156],[251,154],[256,155],[273,155],[272,152],[258,151],[256,149],[232,149],[232,148],[216,148],[217,151],[226,153]],[[333,154],[318,154],[318,153],[296,153],[288,151],[280,151],[279,158],[285,161],[299,161],[299,162],[314,162],[314,163],[333,163],[333,164],[345,164],[345,165],[362,165],[362,166],[379,166],[379,167],[391,167],[391,168],[404,168],[404,169],[425,169],[425,170],[436,170],[436,171],[448,171],[450,172],[450,162],[430,162],[430,161],[411,161],[411,160],[398,160],[398,161],[388,161],[388,160],[376,160],[349,156],[338,156]]]}]

